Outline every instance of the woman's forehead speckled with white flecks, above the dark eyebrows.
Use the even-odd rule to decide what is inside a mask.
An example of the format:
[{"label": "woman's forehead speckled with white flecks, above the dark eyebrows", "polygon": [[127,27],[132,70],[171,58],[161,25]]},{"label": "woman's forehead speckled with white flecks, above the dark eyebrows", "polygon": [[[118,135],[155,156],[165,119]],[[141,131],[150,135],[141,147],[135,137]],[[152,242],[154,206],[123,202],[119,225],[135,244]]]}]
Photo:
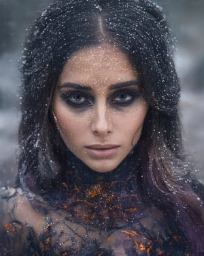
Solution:
[{"label": "woman's forehead speckled with white flecks, above the dark eyebrows", "polygon": [[110,85],[137,78],[129,57],[116,46],[101,44],[82,48],[65,63],[60,83]]}]

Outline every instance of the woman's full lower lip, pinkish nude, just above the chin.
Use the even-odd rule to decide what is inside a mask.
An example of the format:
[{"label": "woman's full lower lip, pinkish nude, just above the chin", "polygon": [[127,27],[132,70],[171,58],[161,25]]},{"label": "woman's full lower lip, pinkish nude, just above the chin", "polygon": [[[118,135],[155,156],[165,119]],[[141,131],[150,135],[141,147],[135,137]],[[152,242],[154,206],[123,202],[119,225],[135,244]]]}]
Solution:
[{"label": "woman's full lower lip, pinkish nude, just above the chin", "polygon": [[118,152],[119,147],[105,148],[105,149],[95,149],[86,147],[86,152],[93,156],[94,158],[109,158],[114,156]]}]

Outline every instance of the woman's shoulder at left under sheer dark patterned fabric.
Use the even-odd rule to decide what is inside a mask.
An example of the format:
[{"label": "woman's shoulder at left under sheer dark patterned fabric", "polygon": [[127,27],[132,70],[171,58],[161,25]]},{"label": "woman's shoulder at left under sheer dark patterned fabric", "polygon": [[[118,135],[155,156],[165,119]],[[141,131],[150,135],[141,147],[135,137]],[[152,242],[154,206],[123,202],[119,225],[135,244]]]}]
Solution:
[{"label": "woman's shoulder at left under sheer dark patterned fabric", "polygon": [[[32,235],[39,236],[44,215],[37,212],[21,188],[0,188],[0,255],[22,255]],[[2,254],[1,254],[2,253]]]}]

